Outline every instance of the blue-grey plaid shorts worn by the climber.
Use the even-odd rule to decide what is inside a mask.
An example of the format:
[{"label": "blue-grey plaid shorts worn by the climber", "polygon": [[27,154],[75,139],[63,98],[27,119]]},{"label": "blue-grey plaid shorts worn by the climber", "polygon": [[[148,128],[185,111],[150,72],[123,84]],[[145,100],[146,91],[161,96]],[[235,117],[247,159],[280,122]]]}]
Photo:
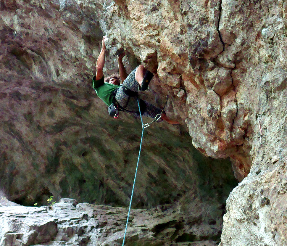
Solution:
[{"label": "blue-grey plaid shorts worn by the climber", "polygon": [[[123,85],[128,87],[128,89],[132,91],[138,91],[138,81],[136,81],[135,78],[136,69],[131,72],[128,77],[124,80]],[[123,92],[122,86],[117,90],[116,93],[116,100],[118,104],[120,104],[121,107],[125,107],[128,103],[126,110],[138,112],[138,101],[136,97],[130,97],[130,100],[128,101],[129,96]],[[146,111],[143,113],[143,116],[147,116],[150,118],[155,118],[157,114],[160,114],[162,110],[153,104],[146,102]],[[131,113],[133,115],[137,115],[137,113]],[[159,119],[157,122],[162,121],[162,119]]]}]

